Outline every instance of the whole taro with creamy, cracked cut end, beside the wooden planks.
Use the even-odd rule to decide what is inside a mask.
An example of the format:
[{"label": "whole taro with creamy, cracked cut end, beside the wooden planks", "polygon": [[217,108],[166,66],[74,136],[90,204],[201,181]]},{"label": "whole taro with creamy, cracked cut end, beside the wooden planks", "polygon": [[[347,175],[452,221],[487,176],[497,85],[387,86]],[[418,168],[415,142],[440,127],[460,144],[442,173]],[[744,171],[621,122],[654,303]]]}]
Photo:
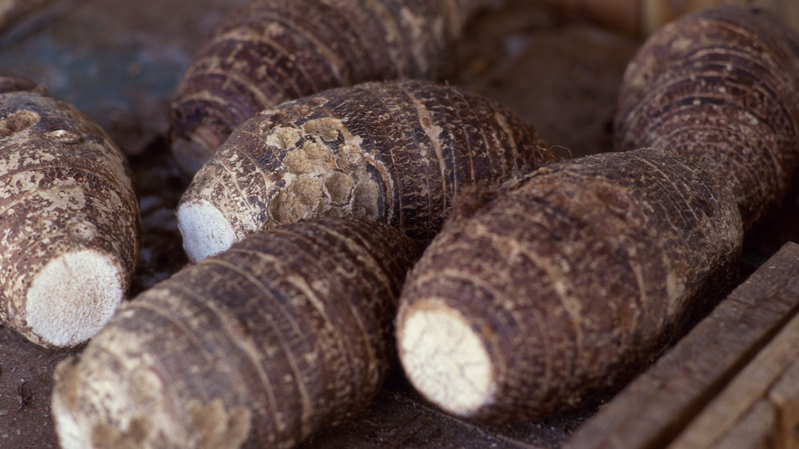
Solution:
[{"label": "whole taro with creamy, cracked cut end, beside the wooden planks", "polygon": [[734,280],[732,193],[685,158],[606,153],[508,189],[448,222],[400,297],[403,368],[445,411],[503,422],[586,406]]}]

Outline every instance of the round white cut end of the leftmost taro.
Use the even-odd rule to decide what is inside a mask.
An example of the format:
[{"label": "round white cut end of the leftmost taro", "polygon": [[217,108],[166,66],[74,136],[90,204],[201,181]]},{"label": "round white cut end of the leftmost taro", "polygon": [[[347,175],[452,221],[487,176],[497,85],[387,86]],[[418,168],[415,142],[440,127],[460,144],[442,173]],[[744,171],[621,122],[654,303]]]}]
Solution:
[{"label": "round white cut end of the leftmost taro", "polygon": [[125,295],[121,263],[105,252],[66,252],[39,270],[26,295],[26,320],[45,344],[74,346],[93,337]]}]

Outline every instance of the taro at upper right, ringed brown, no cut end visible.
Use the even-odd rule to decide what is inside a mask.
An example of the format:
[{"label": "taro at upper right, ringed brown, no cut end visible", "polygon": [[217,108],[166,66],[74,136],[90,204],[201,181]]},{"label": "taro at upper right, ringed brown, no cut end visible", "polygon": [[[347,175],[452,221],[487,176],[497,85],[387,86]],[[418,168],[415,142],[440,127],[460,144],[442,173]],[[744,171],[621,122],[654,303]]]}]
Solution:
[{"label": "taro at upper right, ringed brown, no cut end visible", "polygon": [[674,149],[733,186],[746,229],[781,203],[799,163],[799,38],[722,6],[654,34],[630,62],[617,149]]}]

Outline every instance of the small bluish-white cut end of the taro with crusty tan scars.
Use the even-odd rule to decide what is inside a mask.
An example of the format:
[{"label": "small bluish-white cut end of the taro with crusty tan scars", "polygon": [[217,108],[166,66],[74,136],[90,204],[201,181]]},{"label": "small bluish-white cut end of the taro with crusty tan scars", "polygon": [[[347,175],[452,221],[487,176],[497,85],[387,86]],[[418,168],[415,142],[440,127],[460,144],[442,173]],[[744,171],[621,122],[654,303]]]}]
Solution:
[{"label": "small bluish-white cut end of the taro with crusty tan scars", "polygon": [[229,221],[205,200],[181,205],[177,209],[177,228],[183,235],[183,248],[193,262],[216,256],[236,242],[236,232]]}]

